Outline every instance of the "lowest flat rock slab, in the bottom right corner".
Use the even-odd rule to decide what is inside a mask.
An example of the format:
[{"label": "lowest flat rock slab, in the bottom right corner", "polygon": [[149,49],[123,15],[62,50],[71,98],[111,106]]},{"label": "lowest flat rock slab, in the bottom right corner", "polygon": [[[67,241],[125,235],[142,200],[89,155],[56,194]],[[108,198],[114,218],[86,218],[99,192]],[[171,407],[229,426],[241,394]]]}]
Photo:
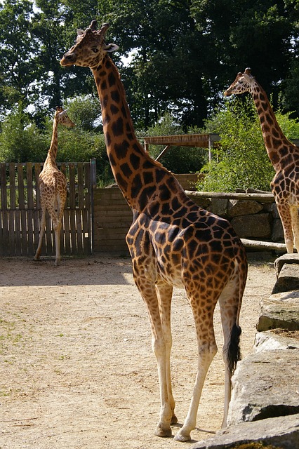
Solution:
[{"label": "lowest flat rock slab, in the bottom right corner", "polygon": [[192,449],[229,449],[237,444],[260,443],[284,449],[299,449],[299,414],[244,422],[218,431],[192,445]]}]

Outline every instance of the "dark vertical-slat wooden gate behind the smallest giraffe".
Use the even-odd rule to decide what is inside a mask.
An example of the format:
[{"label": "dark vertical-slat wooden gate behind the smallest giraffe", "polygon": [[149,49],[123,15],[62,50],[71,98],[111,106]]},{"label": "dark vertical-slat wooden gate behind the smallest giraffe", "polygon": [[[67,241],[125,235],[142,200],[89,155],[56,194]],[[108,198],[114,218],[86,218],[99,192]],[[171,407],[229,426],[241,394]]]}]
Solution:
[{"label": "dark vertical-slat wooden gate behind the smallest giraffe", "polygon": [[[36,180],[44,163],[0,163],[0,256],[32,257],[39,242],[41,205]],[[95,160],[58,163],[67,178],[61,255],[88,255],[93,246]],[[55,255],[55,236],[46,213],[41,256]]]}]

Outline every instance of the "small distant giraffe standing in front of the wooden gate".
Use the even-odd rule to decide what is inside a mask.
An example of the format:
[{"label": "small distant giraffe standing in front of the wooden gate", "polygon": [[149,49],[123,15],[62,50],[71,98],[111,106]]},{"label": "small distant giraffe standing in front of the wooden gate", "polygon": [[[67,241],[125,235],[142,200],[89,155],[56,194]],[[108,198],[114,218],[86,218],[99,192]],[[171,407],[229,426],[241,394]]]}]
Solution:
[{"label": "small distant giraffe standing in front of the wooden gate", "polygon": [[65,175],[58,170],[56,165],[56,155],[58,149],[58,124],[72,127],[74,123],[67,112],[62,107],[56,107],[53,133],[48,156],[44,163],[44,168],[39,173],[39,192],[41,197],[41,229],[39,234],[39,245],[37,247],[34,260],[38,260],[41,254],[41,245],[43,243],[44,230],[46,226],[46,209],[51,217],[53,229],[55,232],[55,265],[60,264],[60,229],[67,199],[67,180]]}]

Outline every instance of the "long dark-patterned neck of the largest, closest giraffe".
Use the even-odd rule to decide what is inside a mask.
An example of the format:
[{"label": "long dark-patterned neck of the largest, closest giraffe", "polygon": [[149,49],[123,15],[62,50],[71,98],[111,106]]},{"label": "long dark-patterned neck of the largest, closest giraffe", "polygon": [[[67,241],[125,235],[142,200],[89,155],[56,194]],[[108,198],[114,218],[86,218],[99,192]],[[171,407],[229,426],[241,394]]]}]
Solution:
[{"label": "long dark-patterned neck of the largest, closest giraffe", "polygon": [[164,184],[167,182],[169,193],[185,198],[175,177],[153,161],[135,137],[124,86],[114,62],[105,55],[100,66],[92,72],[102,106],[107,154],[114,178],[128,204],[142,211],[150,199],[153,201],[158,196],[161,199],[161,180]]}]

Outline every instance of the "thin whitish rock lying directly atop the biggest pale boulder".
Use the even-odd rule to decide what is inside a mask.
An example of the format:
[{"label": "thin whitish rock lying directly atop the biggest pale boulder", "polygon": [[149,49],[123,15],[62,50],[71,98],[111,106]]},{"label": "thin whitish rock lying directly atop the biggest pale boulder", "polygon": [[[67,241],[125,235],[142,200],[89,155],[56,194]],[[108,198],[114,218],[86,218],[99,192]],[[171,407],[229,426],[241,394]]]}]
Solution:
[{"label": "thin whitish rock lying directly atop the biggest pale boulder", "polygon": [[255,352],[299,349],[299,330],[274,329],[258,332],[255,334],[253,349]]}]

